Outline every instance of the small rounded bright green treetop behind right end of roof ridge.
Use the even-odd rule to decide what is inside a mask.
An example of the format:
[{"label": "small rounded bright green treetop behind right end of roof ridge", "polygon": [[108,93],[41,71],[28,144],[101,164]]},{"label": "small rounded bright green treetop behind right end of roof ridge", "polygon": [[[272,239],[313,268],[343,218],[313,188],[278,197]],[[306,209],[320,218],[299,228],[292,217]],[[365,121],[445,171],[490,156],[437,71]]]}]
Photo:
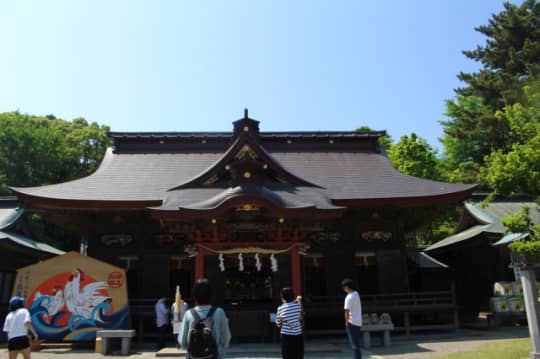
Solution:
[{"label": "small rounded bright green treetop behind right end of roof ridge", "polygon": [[406,175],[427,179],[440,179],[437,150],[415,133],[401,136],[399,142],[388,149],[388,157],[398,171]]}]

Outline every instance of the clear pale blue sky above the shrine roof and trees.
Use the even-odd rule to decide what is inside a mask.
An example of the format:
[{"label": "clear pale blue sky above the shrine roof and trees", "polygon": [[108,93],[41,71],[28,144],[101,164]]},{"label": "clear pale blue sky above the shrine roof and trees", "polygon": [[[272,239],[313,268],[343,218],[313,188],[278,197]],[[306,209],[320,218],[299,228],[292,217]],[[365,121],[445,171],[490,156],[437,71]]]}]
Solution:
[{"label": "clear pale blue sky above the shrine roof and trees", "polygon": [[0,0],[0,112],[114,131],[416,132],[434,146],[461,50],[498,0]]}]

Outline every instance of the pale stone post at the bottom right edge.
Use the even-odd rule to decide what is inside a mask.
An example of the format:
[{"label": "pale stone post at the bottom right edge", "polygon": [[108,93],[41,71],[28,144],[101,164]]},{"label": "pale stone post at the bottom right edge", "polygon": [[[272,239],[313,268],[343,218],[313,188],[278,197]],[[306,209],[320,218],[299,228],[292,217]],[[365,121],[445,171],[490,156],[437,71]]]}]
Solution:
[{"label": "pale stone post at the bottom right edge", "polygon": [[527,310],[527,323],[532,341],[531,359],[540,359],[540,331],[538,327],[538,294],[536,292],[536,277],[533,269],[521,271],[523,297]]}]

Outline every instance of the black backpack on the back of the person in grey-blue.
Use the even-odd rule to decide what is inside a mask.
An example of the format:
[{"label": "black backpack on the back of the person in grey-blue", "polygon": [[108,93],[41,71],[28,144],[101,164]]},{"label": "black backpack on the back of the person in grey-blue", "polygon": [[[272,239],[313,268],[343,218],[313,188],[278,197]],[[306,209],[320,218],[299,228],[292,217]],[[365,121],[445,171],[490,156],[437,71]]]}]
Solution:
[{"label": "black backpack on the back of the person in grey-blue", "polygon": [[212,332],[212,315],[216,307],[211,307],[206,318],[201,319],[195,309],[191,309],[191,315],[195,319],[195,326],[188,333],[187,352],[191,359],[215,359],[217,358],[217,344]]}]

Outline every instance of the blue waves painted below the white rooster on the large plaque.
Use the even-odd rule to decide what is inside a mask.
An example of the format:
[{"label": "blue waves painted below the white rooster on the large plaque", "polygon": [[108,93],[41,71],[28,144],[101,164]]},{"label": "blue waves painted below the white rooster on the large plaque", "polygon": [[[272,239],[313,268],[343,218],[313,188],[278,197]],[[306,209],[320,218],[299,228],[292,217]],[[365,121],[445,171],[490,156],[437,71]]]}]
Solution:
[{"label": "blue waves painted below the white rooster on the large plaque", "polygon": [[[102,329],[121,329],[126,328],[128,320],[127,304],[112,314],[111,305],[103,302],[92,310],[91,318],[84,318],[80,315],[73,315],[68,311],[56,313],[50,321],[44,320],[48,317],[47,308],[43,306],[46,296],[35,300],[30,306],[30,316],[32,325],[40,336],[40,339],[60,341],[91,341],[96,338],[96,331]],[[66,323],[66,319],[67,320]],[[60,324],[63,323],[63,324]],[[65,324],[64,324],[65,323]]]}]

